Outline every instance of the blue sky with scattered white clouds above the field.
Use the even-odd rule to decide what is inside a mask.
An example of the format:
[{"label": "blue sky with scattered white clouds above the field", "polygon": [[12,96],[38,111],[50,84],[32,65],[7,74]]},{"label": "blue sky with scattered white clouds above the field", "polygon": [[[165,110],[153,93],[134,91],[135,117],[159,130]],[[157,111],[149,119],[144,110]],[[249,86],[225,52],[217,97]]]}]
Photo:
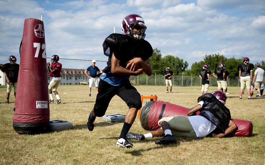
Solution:
[{"label": "blue sky with scattered white clouds above the field", "polygon": [[[30,1],[0,0],[0,64],[17,57],[26,18],[43,15],[47,57],[107,60],[102,43],[121,33],[128,14],[139,14],[146,37],[163,56],[189,63],[207,53],[227,58],[242,56],[256,63],[265,60],[264,0],[127,0]],[[49,61],[50,59],[47,59]],[[63,68],[86,69],[90,61],[60,60]],[[106,62],[97,62],[102,69]]]}]

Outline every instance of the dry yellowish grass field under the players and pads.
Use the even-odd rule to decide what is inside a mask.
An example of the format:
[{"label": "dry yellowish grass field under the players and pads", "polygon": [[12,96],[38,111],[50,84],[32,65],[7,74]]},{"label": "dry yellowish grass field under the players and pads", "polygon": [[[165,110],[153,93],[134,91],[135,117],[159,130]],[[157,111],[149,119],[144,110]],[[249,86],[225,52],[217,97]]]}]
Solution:
[{"label": "dry yellowish grass field under the players and pads", "polygon": [[[143,96],[157,95],[158,100],[188,108],[196,105],[201,89],[173,87],[174,93],[167,94],[165,86],[135,87]],[[209,92],[216,89],[210,87]],[[97,118],[94,130],[87,129],[86,120],[96,100],[95,88],[92,97],[88,90],[84,85],[61,85],[58,92],[62,103],[50,105],[50,120],[70,121],[72,130],[19,135],[12,127],[14,96],[10,95],[10,104],[6,105],[6,88],[0,88],[0,164],[265,164],[265,98],[248,100],[245,94],[239,100],[239,87],[228,88],[226,106],[232,118],[252,121],[252,137],[177,137],[177,144],[167,146],[157,146],[154,142],[159,138],[130,140],[134,144],[130,149],[116,147],[123,123]],[[115,96],[106,114],[126,114],[127,110],[126,104]],[[138,119],[130,131],[148,132]]]}]

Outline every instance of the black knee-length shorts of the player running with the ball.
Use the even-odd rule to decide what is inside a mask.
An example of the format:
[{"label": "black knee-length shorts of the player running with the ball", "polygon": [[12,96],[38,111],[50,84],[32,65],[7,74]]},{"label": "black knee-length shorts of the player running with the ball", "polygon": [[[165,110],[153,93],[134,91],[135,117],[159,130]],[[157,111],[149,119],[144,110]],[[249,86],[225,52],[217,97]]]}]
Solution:
[{"label": "black knee-length shorts of the player running with the ball", "polygon": [[135,87],[130,84],[130,82],[124,85],[113,86],[104,80],[100,80],[98,83],[98,95],[94,106],[95,114],[100,114],[100,116],[102,113],[105,114],[107,107],[109,106],[109,102],[115,95],[125,101],[129,109],[134,107],[139,110],[142,107],[141,96]]}]

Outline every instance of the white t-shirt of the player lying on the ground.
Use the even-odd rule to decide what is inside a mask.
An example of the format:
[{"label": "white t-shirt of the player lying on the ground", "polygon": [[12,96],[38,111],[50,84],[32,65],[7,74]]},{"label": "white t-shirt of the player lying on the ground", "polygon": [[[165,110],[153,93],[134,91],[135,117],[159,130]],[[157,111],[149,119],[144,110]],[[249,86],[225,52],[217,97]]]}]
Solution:
[{"label": "white t-shirt of the player lying on the ground", "polygon": [[[198,104],[203,105],[204,101],[200,101]],[[203,116],[188,116],[190,124],[196,133],[197,138],[202,138],[215,130],[216,126]]]}]

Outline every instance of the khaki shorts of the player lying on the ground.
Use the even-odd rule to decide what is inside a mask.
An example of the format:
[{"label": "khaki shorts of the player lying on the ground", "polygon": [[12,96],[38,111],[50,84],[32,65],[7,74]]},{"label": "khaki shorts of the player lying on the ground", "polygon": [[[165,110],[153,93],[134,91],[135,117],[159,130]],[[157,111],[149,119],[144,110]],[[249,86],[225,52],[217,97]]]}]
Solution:
[{"label": "khaki shorts of the player lying on the ground", "polygon": [[158,121],[158,125],[160,121],[166,121],[169,123],[170,130],[174,136],[197,137],[187,116],[174,115],[171,117],[164,117]]}]

